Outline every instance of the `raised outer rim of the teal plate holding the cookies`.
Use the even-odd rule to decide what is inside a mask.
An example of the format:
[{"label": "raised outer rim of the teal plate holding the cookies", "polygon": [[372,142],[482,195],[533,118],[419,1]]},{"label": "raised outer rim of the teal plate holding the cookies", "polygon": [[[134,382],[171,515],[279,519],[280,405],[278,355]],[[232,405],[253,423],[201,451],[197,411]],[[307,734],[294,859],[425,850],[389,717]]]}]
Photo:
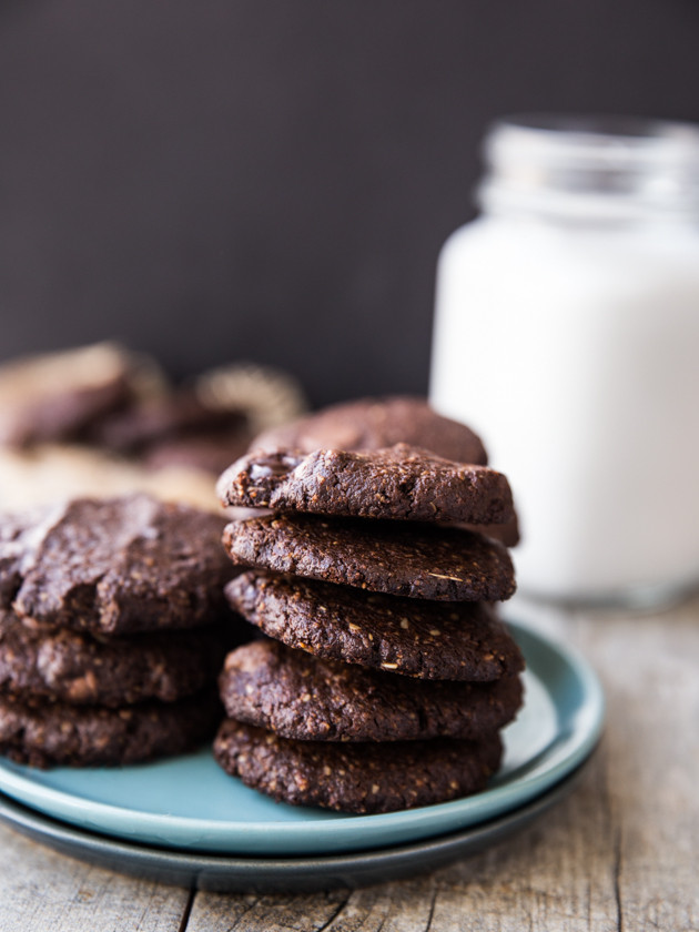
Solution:
[{"label": "raised outer rim of the teal plate holding the cookies", "polygon": [[[525,658],[536,650],[568,668],[580,695],[584,720],[559,735],[523,777],[482,793],[419,809],[372,816],[328,816],[322,821],[245,822],[194,819],[87,800],[65,790],[33,782],[0,761],[0,790],[53,818],[119,838],[170,848],[229,853],[325,853],[364,850],[387,843],[434,837],[493,819],[544,793],[591,753],[604,728],[605,697],[588,661],[570,645],[511,618],[507,625]],[[555,705],[555,703],[554,703]],[[558,710],[558,707],[556,707]],[[16,764],[11,764],[16,768]],[[235,779],[235,778],[231,778]],[[343,835],[342,848],[337,833]],[[330,848],[328,848],[330,845]]]}]

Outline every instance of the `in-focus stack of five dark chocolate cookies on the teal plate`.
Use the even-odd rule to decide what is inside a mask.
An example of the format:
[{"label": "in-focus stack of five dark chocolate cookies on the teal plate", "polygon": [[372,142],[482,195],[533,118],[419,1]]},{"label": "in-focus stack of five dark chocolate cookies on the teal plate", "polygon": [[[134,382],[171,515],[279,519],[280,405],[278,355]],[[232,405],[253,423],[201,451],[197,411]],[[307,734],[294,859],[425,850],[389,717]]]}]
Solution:
[{"label": "in-focus stack of five dark chocolate cookies on the teal plate", "polygon": [[523,658],[493,606],[515,588],[508,553],[463,525],[513,524],[506,478],[406,444],[263,446],[219,483],[224,505],[273,510],[224,534],[252,567],[227,598],[267,637],[226,658],[219,763],[276,800],[350,812],[482,790]]}]

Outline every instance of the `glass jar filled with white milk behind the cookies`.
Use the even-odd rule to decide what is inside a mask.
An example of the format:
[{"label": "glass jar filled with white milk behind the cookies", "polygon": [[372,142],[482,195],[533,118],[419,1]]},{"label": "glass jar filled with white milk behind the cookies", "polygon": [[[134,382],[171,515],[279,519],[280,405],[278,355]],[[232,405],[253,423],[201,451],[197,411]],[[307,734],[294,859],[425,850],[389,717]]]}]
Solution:
[{"label": "glass jar filled with white milk behind the cookies", "polygon": [[699,126],[495,125],[437,271],[430,401],[511,483],[525,594],[699,582]]}]

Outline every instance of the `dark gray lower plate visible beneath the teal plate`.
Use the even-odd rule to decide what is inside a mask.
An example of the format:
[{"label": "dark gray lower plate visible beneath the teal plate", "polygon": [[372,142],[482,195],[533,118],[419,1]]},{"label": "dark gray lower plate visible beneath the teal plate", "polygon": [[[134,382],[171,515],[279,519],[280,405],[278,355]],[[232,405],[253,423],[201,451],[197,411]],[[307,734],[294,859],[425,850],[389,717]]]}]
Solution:
[{"label": "dark gray lower plate visible beneath the teal plate", "polygon": [[567,796],[586,767],[587,761],[526,806],[479,825],[413,844],[332,857],[234,858],[133,844],[67,825],[3,794],[0,820],[63,854],[178,887],[230,893],[355,888],[432,871],[502,841]]}]

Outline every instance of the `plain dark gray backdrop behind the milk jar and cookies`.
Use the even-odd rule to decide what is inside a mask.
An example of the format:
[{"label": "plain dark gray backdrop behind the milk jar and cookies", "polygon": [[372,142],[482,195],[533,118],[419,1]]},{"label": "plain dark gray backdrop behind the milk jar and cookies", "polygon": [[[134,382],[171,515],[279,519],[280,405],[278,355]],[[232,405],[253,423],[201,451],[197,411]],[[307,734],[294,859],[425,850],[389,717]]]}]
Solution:
[{"label": "plain dark gray backdrop behind the milk jar and cookies", "polygon": [[531,110],[699,120],[699,2],[4,2],[0,358],[424,392],[479,139]]}]

